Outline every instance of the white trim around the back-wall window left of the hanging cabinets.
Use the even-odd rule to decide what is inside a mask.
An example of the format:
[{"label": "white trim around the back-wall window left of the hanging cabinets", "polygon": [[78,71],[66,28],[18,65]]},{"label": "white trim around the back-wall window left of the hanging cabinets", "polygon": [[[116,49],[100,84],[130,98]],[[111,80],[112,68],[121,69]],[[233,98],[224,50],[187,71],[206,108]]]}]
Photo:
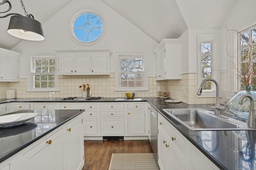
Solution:
[{"label": "white trim around the back-wall window left of the hanging cabinets", "polygon": [[[54,73],[54,88],[39,88],[36,89],[34,88],[34,84],[33,84],[33,63],[34,63],[34,59],[55,59],[55,73]],[[59,91],[59,83],[58,83],[58,74],[57,74],[57,60],[56,60],[56,56],[35,56],[35,57],[31,57],[30,58],[30,77],[28,80],[28,92],[56,92]]]}]

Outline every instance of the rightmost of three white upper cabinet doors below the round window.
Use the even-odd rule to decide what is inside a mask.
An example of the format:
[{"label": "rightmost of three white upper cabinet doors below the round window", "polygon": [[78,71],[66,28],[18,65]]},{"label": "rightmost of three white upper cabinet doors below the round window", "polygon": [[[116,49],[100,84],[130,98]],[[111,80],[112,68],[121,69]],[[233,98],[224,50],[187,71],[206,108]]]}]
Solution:
[{"label": "rightmost of three white upper cabinet doors below the round window", "polygon": [[108,73],[108,55],[93,54],[92,55],[92,73],[107,74]]}]

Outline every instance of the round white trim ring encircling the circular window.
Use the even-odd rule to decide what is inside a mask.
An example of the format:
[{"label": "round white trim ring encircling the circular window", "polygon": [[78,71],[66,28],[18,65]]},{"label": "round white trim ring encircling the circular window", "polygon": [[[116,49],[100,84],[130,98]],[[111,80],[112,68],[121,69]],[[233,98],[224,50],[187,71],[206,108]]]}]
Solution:
[{"label": "round white trim ring encircling the circular window", "polygon": [[[72,30],[72,24],[74,22],[74,20],[81,14],[83,13],[86,13],[86,12],[90,12],[90,13],[93,13],[93,14],[96,14],[98,17],[100,17],[101,21],[102,21],[102,32],[100,34],[100,36],[95,39],[94,41],[91,41],[91,42],[82,42],[82,41],[79,41],[78,39],[76,39],[76,37],[74,37],[74,34],[73,34],[73,30]],[[76,12],[72,15],[73,17],[70,19],[70,22],[69,22],[69,25],[68,25],[68,35],[69,37],[72,39],[72,41],[74,41],[75,43],[79,44],[79,45],[84,45],[84,46],[90,46],[90,45],[94,45],[96,43],[98,43],[102,37],[105,35],[105,32],[106,32],[106,22],[104,20],[104,17],[103,15],[101,15],[99,12],[95,12],[94,10],[81,10],[80,12]]]}]

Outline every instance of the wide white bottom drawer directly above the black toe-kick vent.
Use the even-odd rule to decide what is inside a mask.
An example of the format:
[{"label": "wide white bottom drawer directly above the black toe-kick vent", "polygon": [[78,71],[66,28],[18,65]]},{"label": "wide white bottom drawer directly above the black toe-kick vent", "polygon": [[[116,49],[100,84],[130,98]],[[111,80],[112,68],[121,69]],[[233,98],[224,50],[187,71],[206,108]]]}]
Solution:
[{"label": "wide white bottom drawer directly above the black toe-kick vent", "polygon": [[124,119],[100,119],[102,135],[123,135]]}]

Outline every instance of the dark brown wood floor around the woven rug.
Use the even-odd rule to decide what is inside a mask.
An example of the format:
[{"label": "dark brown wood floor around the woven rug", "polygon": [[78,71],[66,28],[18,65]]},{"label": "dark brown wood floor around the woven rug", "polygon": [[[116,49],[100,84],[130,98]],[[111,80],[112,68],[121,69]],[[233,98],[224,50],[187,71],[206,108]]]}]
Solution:
[{"label": "dark brown wood floor around the woven rug", "polygon": [[149,140],[84,141],[82,170],[108,170],[112,153],[150,153]]}]

